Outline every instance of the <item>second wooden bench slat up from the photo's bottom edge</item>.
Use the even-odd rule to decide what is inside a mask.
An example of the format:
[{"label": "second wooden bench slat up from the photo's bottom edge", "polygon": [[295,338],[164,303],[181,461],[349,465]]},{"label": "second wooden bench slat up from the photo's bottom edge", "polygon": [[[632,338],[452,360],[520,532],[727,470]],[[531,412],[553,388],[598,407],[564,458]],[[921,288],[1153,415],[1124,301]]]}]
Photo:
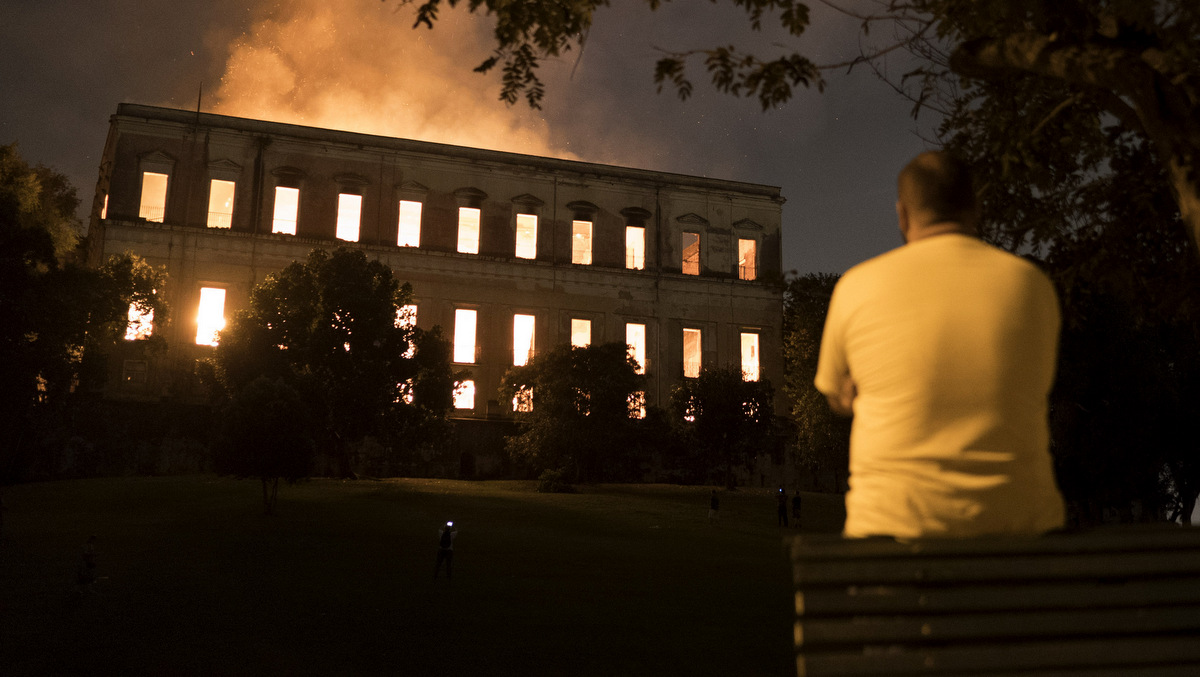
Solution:
[{"label": "second wooden bench slat up from the photo's bottom edge", "polygon": [[[865,616],[796,623],[796,646],[822,649],[845,645],[923,645],[1200,631],[1200,606],[973,613],[953,616]],[[1200,641],[1200,640],[1198,640]]]}]

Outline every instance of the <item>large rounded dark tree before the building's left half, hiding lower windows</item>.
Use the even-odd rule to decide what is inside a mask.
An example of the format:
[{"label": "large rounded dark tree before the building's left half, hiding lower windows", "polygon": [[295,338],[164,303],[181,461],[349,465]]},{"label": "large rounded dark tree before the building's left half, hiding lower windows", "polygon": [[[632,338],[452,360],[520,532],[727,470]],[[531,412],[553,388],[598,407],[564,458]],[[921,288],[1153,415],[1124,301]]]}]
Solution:
[{"label": "large rounded dark tree before the building's left half, hiding lower windows", "polygon": [[367,436],[414,450],[445,427],[454,376],[440,331],[398,322],[412,289],[358,250],[313,250],[254,287],[220,335],[214,364],[227,393],[283,379],[322,425],[336,472],[353,474]]}]

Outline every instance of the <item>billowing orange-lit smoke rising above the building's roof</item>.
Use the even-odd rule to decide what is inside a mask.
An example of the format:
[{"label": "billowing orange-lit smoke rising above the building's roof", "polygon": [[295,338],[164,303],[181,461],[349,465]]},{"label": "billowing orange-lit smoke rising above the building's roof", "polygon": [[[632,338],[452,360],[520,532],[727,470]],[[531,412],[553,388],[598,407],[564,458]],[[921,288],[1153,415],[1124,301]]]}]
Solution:
[{"label": "billowing orange-lit smoke rising above the building's roof", "polygon": [[442,11],[412,30],[397,1],[294,0],[258,8],[229,47],[214,112],[390,137],[574,157],[553,148],[546,121],[498,100],[479,16]]}]

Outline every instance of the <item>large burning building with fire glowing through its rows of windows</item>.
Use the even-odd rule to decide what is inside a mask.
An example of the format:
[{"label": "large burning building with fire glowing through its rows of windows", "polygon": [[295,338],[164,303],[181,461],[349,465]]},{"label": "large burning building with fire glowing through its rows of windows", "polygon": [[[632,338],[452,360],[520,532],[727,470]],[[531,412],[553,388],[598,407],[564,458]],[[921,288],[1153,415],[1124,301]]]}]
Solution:
[{"label": "large burning building with fire glowing through its rows of windows", "polygon": [[628,343],[649,405],[707,366],[782,383],[778,187],[121,104],[96,191],[90,259],[164,265],[175,313],[131,329],[114,399],[194,396],[253,286],[336,246],[391,266],[452,338],[458,419],[510,417],[504,371],[568,342]]}]

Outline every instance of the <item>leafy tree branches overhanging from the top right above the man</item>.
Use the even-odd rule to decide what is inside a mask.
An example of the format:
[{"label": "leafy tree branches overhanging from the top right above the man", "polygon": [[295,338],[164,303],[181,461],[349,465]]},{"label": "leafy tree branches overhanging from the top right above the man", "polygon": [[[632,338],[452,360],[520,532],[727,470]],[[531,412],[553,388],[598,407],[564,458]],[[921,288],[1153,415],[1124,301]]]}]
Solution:
[{"label": "leafy tree branches overhanging from the top right above the man", "polygon": [[[502,0],[424,0],[418,4],[415,26],[432,28],[445,2],[461,1],[470,11],[491,14],[496,22],[496,50],[478,72],[500,66],[500,97],[510,103],[522,95],[538,107],[545,88],[538,78],[540,59],[582,48],[593,16],[606,0],[505,2]],[[880,0],[874,13],[856,12],[839,2],[821,0],[862,19],[864,34],[880,24],[899,37],[893,44],[864,54],[858,62],[872,64],[907,47],[929,61],[906,76],[916,88],[918,108],[938,91],[961,85],[974,103],[960,110],[967,124],[974,106],[1000,104],[1015,109],[1015,128],[1000,127],[1018,143],[1057,137],[1046,121],[1070,108],[1091,110],[1111,121],[1124,134],[1146,140],[1174,194],[1180,215],[1200,247],[1200,6],[1192,0]],[[660,0],[647,0],[652,8]],[[408,2],[404,2],[408,4]],[[776,22],[790,36],[809,26],[809,11],[796,0],[733,0],[746,12],[755,30]],[[756,97],[763,109],[778,107],[797,88],[822,89],[822,72],[846,64],[818,66],[772,41],[778,53],[760,56],[762,43],[738,48],[721,46],[666,54],[655,65],[660,90],[671,86],[680,97],[692,91],[688,64],[703,61],[712,84],[733,96]],[[997,96],[989,83],[1045,83],[1055,92],[1050,101]],[[1000,91],[1012,90],[1003,88]],[[1033,103],[1033,106],[1028,106]],[[991,119],[990,122],[995,122]],[[982,124],[990,124],[988,121]],[[1028,132],[1028,136],[1025,136]],[[1073,144],[1068,144],[1073,145]],[[1104,145],[1090,150],[1105,156]],[[1051,152],[1055,150],[1051,149]],[[995,156],[1006,166],[1032,162],[1025,154]],[[1015,176],[994,186],[1004,190]]]}]

